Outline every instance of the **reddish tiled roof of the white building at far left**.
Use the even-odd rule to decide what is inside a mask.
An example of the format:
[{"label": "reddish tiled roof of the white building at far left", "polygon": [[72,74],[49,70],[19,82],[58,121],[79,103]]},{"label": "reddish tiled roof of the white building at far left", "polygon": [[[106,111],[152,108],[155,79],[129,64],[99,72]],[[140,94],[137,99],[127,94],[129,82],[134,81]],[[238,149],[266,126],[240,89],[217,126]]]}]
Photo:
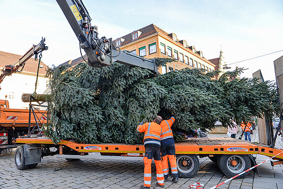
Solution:
[{"label": "reddish tiled roof of the white building at far left", "polygon": [[[10,65],[16,63],[22,56],[21,55],[16,55],[13,53],[7,53],[4,51],[0,51],[0,67],[4,68],[5,65]],[[34,58],[32,57],[30,60],[28,60],[24,66],[22,74],[28,74],[28,75],[36,75],[37,73],[37,66],[38,66],[38,61],[34,61]],[[48,69],[48,66],[40,62],[40,64],[43,66],[39,68],[39,74],[41,76],[46,75],[46,70]]]}]

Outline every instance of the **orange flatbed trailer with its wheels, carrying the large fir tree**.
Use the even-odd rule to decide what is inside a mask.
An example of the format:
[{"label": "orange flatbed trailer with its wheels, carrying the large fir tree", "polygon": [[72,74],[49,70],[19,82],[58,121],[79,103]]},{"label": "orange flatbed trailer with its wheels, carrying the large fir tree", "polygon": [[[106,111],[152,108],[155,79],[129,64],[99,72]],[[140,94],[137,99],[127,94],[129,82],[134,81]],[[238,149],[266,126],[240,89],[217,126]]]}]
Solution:
[{"label": "orange flatbed trailer with its wheels, carrying the large fir tree", "polygon": [[[48,153],[45,154],[44,152],[48,152],[46,149],[51,147],[58,149],[57,152],[52,155],[57,154],[61,156],[61,158],[66,158],[67,160],[79,159],[91,152],[98,152],[103,156],[133,156],[132,154],[135,154],[135,156],[143,156],[145,153],[143,145],[85,144],[68,140],[62,140],[58,144],[54,144],[51,139],[46,137],[17,138],[16,143],[26,144],[27,147],[25,148],[18,147],[22,148],[22,151],[23,149],[28,149],[28,151],[36,150],[38,153],[38,150],[42,149],[40,158],[49,156]],[[193,177],[199,170],[199,160],[197,156],[201,158],[209,157],[212,161],[218,163],[220,170],[224,174],[231,177],[256,164],[255,158],[252,157],[253,154],[273,157],[280,152],[283,152],[283,149],[270,148],[266,145],[233,138],[189,138],[186,142],[176,143],[175,148],[179,176],[183,178]],[[29,164],[23,166],[21,153],[24,154],[25,152],[17,153],[17,150],[15,153],[15,163],[17,168],[30,168]],[[20,159],[22,159],[22,161],[20,161]],[[277,156],[275,160],[277,161],[274,161],[273,165],[283,164],[283,153]],[[37,161],[40,162],[41,159],[38,159]],[[36,165],[38,163],[37,161]],[[34,165],[34,162],[30,162],[30,164],[36,166]],[[255,172],[257,172],[257,170],[255,170]],[[245,177],[248,173],[249,172],[241,175],[239,178]]]}]

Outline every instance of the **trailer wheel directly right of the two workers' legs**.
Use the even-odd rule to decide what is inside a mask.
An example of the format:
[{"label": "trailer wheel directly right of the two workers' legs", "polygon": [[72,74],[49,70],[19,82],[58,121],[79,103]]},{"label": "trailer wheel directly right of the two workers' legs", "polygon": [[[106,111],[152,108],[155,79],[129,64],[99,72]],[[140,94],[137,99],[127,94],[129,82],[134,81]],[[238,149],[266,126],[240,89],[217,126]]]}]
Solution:
[{"label": "trailer wheel directly right of the two workers' legs", "polygon": [[191,178],[199,170],[199,160],[196,155],[177,156],[177,169],[180,178]]}]

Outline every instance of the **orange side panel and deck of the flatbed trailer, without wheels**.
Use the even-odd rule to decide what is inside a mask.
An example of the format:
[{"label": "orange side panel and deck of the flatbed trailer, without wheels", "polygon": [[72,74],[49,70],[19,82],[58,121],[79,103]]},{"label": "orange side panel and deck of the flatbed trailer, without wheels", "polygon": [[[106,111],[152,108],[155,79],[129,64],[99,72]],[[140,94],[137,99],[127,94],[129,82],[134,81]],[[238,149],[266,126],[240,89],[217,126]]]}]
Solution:
[{"label": "orange side panel and deck of the flatbed trailer, without wheels", "polygon": [[[17,138],[16,143],[24,144],[53,144],[51,139],[39,138]],[[54,144],[55,145],[55,144]],[[101,153],[145,153],[143,145],[130,144],[84,144],[62,140],[58,146],[67,146],[79,153],[101,152]],[[238,139],[228,138],[191,138],[186,142],[176,143],[176,154],[215,155],[215,154],[261,154],[273,157],[283,149],[269,148],[268,146],[253,144]],[[283,154],[277,156],[283,159]]]}]

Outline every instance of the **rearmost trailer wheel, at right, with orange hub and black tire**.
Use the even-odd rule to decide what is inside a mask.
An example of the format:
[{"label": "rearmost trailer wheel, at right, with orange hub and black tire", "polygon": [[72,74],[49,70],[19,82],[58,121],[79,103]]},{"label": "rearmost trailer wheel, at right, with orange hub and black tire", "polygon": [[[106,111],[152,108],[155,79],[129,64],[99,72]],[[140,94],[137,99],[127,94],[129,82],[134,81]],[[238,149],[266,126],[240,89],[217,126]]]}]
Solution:
[{"label": "rearmost trailer wheel, at right, with orange hub and black tire", "polygon": [[[223,155],[222,158],[220,158],[219,163],[222,172],[230,178],[251,168],[252,165],[251,159],[247,155]],[[233,165],[232,163],[235,163],[235,165]],[[250,171],[236,177],[235,179],[242,179],[246,177],[249,172]]]}]

